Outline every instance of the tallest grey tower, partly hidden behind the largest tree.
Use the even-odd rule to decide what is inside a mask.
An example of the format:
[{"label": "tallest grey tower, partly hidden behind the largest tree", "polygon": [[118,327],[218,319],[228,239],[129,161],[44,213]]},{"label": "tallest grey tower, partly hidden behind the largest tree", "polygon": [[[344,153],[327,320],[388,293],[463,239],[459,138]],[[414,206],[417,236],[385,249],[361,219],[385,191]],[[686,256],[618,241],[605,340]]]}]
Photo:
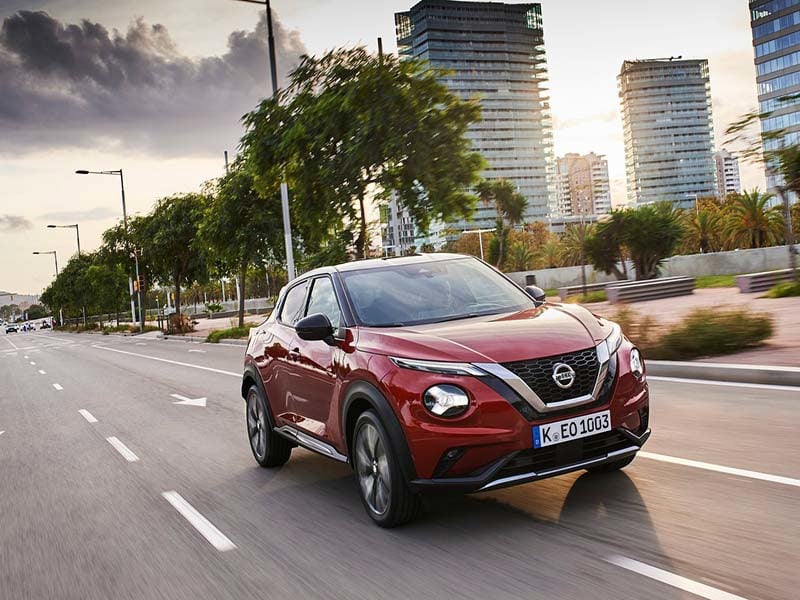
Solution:
[{"label": "tallest grey tower, partly hidden behind the largest tree", "polygon": [[[524,218],[545,218],[555,203],[552,123],[539,4],[422,0],[395,15],[401,58],[446,69],[441,81],[461,98],[479,98],[483,118],[467,134],[486,159],[486,178],[511,181],[528,200]],[[469,223],[492,226],[494,207],[478,205]]]}]

